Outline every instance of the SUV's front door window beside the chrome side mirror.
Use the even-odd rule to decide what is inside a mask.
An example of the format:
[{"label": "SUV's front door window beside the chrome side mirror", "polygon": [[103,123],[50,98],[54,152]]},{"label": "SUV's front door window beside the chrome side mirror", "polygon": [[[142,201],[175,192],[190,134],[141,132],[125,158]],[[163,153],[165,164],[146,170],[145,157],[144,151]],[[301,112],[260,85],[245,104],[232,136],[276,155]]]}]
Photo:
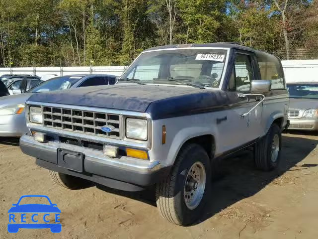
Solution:
[{"label": "SUV's front door window beside the chrome side mirror", "polygon": [[235,57],[235,85],[237,91],[249,91],[254,80],[250,56],[237,54]]}]

